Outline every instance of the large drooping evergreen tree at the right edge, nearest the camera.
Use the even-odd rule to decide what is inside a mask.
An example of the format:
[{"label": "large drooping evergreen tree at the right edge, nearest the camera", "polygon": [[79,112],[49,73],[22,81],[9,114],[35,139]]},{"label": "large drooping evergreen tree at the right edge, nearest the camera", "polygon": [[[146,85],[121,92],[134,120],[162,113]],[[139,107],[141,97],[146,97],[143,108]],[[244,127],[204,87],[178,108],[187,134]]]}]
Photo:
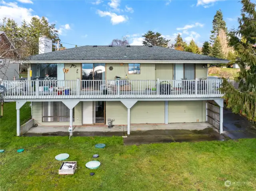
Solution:
[{"label": "large drooping evergreen tree at the right edge, nearest the camera", "polygon": [[[238,29],[229,33],[229,46],[238,53],[236,63],[240,66],[238,90],[223,79],[222,93],[228,99],[228,108],[234,113],[242,110],[249,119],[256,120],[256,4],[241,0],[242,18],[238,19]],[[247,67],[248,66],[248,67]]]}]

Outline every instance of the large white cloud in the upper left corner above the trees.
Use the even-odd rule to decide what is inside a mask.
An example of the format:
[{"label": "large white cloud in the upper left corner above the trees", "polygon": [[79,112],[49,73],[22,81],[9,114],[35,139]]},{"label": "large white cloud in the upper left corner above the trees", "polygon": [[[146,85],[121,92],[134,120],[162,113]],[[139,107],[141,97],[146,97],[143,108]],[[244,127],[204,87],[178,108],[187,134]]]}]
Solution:
[{"label": "large white cloud in the upper left corner above the trees", "polygon": [[20,7],[17,2],[0,1],[0,4],[0,18],[11,18],[19,25],[22,23],[22,20],[29,22],[33,16],[40,18],[38,15],[33,14],[33,9]]}]

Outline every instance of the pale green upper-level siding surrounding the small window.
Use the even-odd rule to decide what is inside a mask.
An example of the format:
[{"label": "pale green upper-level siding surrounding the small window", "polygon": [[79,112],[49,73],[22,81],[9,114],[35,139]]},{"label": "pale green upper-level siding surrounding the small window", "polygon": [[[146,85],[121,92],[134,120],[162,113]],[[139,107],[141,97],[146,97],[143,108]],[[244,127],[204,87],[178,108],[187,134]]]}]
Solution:
[{"label": "pale green upper-level siding surrounding the small window", "polygon": [[[110,66],[113,70],[109,70]],[[155,80],[155,64],[140,64],[140,74],[128,74],[128,64],[106,64],[106,80],[114,80],[115,76],[125,78],[126,74],[129,80]]]}]

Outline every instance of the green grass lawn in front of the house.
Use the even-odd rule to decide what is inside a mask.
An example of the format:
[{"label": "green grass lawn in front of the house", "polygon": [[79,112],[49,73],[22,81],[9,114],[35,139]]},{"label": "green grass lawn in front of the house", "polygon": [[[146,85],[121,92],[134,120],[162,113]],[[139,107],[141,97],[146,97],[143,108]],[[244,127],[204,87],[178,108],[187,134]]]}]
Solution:
[{"label": "green grass lawn in front of the house", "polygon": [[[0,190],[224,190],[226,180],[247,183],[228,189],[256,190],[256,139],[123,146],[122,137],[15,137],[15,103],[4,107]],[[20,113],[21,123],[29,119],[29,104]],[[58,175],[59,153],[78,161],[74,175]],[[86,169],[96,153],[102,165]]]}]

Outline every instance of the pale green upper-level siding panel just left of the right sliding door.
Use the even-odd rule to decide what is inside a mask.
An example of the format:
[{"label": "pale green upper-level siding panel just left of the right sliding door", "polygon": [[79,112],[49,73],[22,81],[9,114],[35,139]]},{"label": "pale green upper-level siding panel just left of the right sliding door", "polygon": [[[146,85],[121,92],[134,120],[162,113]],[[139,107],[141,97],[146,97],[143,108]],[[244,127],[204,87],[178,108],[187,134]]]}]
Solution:
[{"label": "pale green upper-level siding panel just left of the right sliding door", "polygon": [[173,80],[173,64],[155,64],[155,78]]}]

